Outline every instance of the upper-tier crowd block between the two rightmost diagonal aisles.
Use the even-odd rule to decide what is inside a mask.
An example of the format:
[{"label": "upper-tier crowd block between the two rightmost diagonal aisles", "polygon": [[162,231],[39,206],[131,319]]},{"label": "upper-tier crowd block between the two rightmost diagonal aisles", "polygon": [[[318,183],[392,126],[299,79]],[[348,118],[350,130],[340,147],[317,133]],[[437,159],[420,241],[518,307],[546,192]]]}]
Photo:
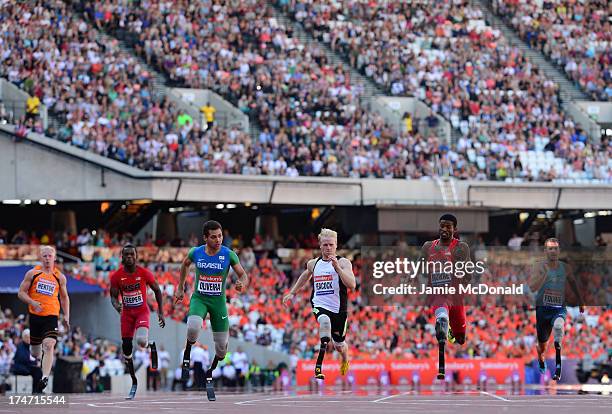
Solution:
[{"label": "upper-tier crowd block between the two rightmost diagonal aisles", "polygon": [[[610,142],[590,142],[562,111],[558,85],[486,26],[478,6],[278,3],[390,94],[413,95],[448,119],[461,132],[449,153],[453,164],[465,154],[489,179],[610,179]],[[526,150],[551,151],[558,160],[538,167],[518,156]]]}]

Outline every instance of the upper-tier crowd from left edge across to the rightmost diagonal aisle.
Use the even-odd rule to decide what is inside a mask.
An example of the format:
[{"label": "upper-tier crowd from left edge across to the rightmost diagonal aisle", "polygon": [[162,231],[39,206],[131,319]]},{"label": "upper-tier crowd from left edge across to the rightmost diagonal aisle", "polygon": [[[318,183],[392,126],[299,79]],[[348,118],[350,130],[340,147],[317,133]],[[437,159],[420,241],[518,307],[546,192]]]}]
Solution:
[{"label": "upper-tier crowd from left edge across to the rightmost diagonal aisle", "polygon": [[[369,16],[349,3],[351,19]],[[1,74],[63,120],[51,131],[60,140],[147,170],[612,179],[609,142],[591,143],[559,109],[556,85],[499,33],[471,26],[481,17],[477,8],[385,4],[357,24],[337,10],[320,13],[331,7],[326,1],[292,3],[296,18],[316,26],[323,40],[327,34],[376,82],[414,94],[449,119],[462,132],[452,147],[416,119],[393,131],[361,105],[363,86],[320,48],[300,43],[262,0],[203,1],[199,8],[83,2],[87,20],[61,1],[5,3],[3,24],[15,29],[2,34]],[[261,134],[205,128],[157,99],[151,74],[95,28],[137,36],[137,53],[148,62],[184,86],[222,94],[257,119]],[[404,42],[413,46],[399,47]],[[435,125],[429,118],[425,124]],[[40,120],[34,113],[20,127],[40,132]],[[555,162],[526,165],[524,155],[534,150],[554,152]]]}]

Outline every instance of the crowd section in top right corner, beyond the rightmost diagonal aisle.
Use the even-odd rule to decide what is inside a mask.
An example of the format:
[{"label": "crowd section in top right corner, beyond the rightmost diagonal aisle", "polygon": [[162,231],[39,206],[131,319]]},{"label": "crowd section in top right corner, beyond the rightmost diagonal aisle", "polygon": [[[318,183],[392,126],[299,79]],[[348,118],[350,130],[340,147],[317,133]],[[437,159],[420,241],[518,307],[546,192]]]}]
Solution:
[{"label": "crowd section in top right corner, beyond the rightmost diagonal aisle", "polygon": [[612,100],[609,2],[494,0],[493,10],[530,47],[539,49],[590,97]]}]

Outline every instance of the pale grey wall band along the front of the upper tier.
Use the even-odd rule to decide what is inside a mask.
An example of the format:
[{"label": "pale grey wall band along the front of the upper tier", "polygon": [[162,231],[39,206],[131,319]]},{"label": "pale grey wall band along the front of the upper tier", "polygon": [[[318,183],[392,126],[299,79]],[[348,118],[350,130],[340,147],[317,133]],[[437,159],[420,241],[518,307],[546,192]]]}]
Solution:
[{"label": "pale grey wall band along the front of the upper tier", "polygon": [[0,136],[0,176],[3,177],[0,200],[150,199],[178,203],[600,210],[608,210],[612,205],[612,185],[600,183],[150,172],[39,134],[17,139],[12,126],[0,125]]}]

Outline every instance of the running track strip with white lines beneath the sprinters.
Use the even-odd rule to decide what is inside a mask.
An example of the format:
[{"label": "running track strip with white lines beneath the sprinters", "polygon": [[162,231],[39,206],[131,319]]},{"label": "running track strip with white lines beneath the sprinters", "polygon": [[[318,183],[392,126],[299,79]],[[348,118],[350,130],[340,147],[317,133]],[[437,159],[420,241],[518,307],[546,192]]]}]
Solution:
[{"label": "running track strip with white lines beneath the sprinters", "polygon": [[337,413],[469,413],[502,412],[504,414],[612,412],[612,397],[587,395],[508,395],[494,392],[438,392],[417,395],[413,391],[377,392],[325,391],[322,393],[217,393],[209,402],[205,393],[141,392],[133,401],[109,394],[73,394],[62,408],[16,407],[8,396],[0,396],[0,414],[5,413],[190,413],[221,412],[227,414],[312,414],[333,410]]}]

